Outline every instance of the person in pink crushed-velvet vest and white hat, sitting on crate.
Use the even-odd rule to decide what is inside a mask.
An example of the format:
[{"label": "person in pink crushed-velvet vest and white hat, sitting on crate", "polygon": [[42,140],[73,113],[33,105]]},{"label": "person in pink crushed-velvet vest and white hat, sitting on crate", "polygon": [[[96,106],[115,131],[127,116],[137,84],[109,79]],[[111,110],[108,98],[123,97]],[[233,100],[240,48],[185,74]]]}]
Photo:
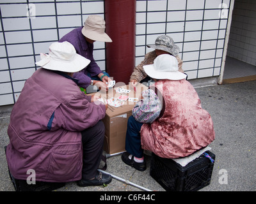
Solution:
[{"label": "person in pink crushed-velvet vest and white hat, sitting on crate", "polygon": [[146,170],[143,149],[165,158],[186,157],[214,140],[212,119],[202,109],[193,86],[181,73],[175,57],[159,55],[154,64],[143,66],[155,83],[144,91],[143,100],[128,120],[122,160]]}]

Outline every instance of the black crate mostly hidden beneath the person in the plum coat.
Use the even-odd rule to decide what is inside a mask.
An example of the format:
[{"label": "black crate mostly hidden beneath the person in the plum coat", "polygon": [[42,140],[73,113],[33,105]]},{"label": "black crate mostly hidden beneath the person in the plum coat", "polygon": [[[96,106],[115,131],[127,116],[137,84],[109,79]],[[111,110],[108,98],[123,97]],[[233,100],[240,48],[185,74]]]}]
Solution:
[{"label": "black crate mostly hidden beneath the person in the plum coat", "polygon": [[[6,146],[4,147],[4,152],[6,153]],[[35,184],[28,184],[26,180],[15,179],[12,173],[10,173],[9,167],[8,172],[10,179],[12,180],[12,184],[15,188],[15,191],[54,191],[55,189],[58,189],[66,185],[65,182],[59,183],[42,181],[36,181]]]}]

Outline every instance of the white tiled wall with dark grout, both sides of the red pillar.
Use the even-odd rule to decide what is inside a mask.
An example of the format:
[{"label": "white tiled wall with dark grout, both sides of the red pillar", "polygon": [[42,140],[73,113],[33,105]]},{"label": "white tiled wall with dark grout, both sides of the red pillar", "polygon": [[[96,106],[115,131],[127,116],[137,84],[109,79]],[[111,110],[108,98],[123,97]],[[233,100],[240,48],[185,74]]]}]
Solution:
[{"label": "white tiled wall with dark grout, both sides of the red pillar", "polygon": [[[236,0],[238,1],[238,0]],[[30,12],[28,12],[28,3]],[[146,45],[168,34],[180,47],[188,78],[220,75],[230,0],[137,0],[136,65]],[[13,104],[36,70],[41,52],[91,14],[104,17],[104,0],[1,0],[0,105]],[[28,16],[30,14],[30,18]],[[225,14],[225,12],[224,12]],[[95,42],[94,57],[105,70],[105,44]]]}]

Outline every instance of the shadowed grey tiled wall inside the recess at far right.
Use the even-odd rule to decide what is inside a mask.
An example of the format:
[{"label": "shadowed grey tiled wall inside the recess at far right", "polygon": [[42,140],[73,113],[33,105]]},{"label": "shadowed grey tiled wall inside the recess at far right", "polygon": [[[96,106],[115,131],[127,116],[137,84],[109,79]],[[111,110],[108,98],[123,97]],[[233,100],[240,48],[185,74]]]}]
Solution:
[{"label": "shadowed grey tiled wall inside the recess at far right", "polygon": [[235,1],[227,55],[256,66],[256,1]]}]

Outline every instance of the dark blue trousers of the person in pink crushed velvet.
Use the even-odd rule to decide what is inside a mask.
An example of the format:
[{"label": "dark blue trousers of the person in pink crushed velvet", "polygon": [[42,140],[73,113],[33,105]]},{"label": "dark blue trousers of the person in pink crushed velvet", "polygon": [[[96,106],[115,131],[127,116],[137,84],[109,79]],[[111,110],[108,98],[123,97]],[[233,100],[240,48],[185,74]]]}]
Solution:
[{"label": "dark blue trousers of the person in pink crushed velvet", "polygon": [[127,122],[127,131],[125,138],[125,150],[135,157],[143,157],[143,149],[141,149],[140,129],[143,123],[138,122],[133,116],[129,117]]}]

